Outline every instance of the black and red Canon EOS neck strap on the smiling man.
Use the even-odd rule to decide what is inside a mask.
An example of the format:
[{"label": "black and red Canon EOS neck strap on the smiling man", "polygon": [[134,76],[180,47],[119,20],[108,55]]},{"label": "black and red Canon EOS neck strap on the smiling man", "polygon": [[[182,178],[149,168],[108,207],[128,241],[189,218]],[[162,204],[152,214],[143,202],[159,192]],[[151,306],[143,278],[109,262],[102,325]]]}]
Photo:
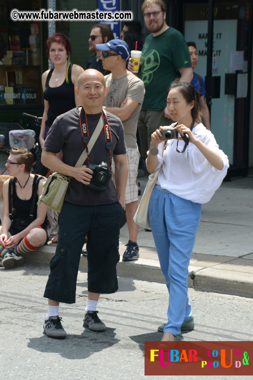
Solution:
[{"label": "black and red Canon EOS neck strap on the smiling man", "polygon": [[[104,139],[105,139],[106,148],[109,150],[109,164],[110,164],[110,169],[111,169],[112,168],[112,136],[111,136],[111,130],[110,130],[110,126],[109,126],[107,116],[106,116],[106,112],[103,109],[101,111],[101,117],[99,119],[98,124],[100,123],[101,119],[103,120]],[[85,150],[87,153],[88,163],[90,164],[88,144],[89,144],[89,141],[92,139],[92,136],[90,137],[90,135],[89,135],[87,114],[84,111],[83,107],[79,110],[79,120],[80,120],[81,134],[82,134],[82,142],[84,143],[84,147],[85,147]],[[105,122],[105,120],[107,123]],[[98,125],[97,125],[97,127],[98,127]],[[96,131],[97,127],[95,128],[95,131]],[[93,135],[94,135],[95,131],[93,132]]]}]

